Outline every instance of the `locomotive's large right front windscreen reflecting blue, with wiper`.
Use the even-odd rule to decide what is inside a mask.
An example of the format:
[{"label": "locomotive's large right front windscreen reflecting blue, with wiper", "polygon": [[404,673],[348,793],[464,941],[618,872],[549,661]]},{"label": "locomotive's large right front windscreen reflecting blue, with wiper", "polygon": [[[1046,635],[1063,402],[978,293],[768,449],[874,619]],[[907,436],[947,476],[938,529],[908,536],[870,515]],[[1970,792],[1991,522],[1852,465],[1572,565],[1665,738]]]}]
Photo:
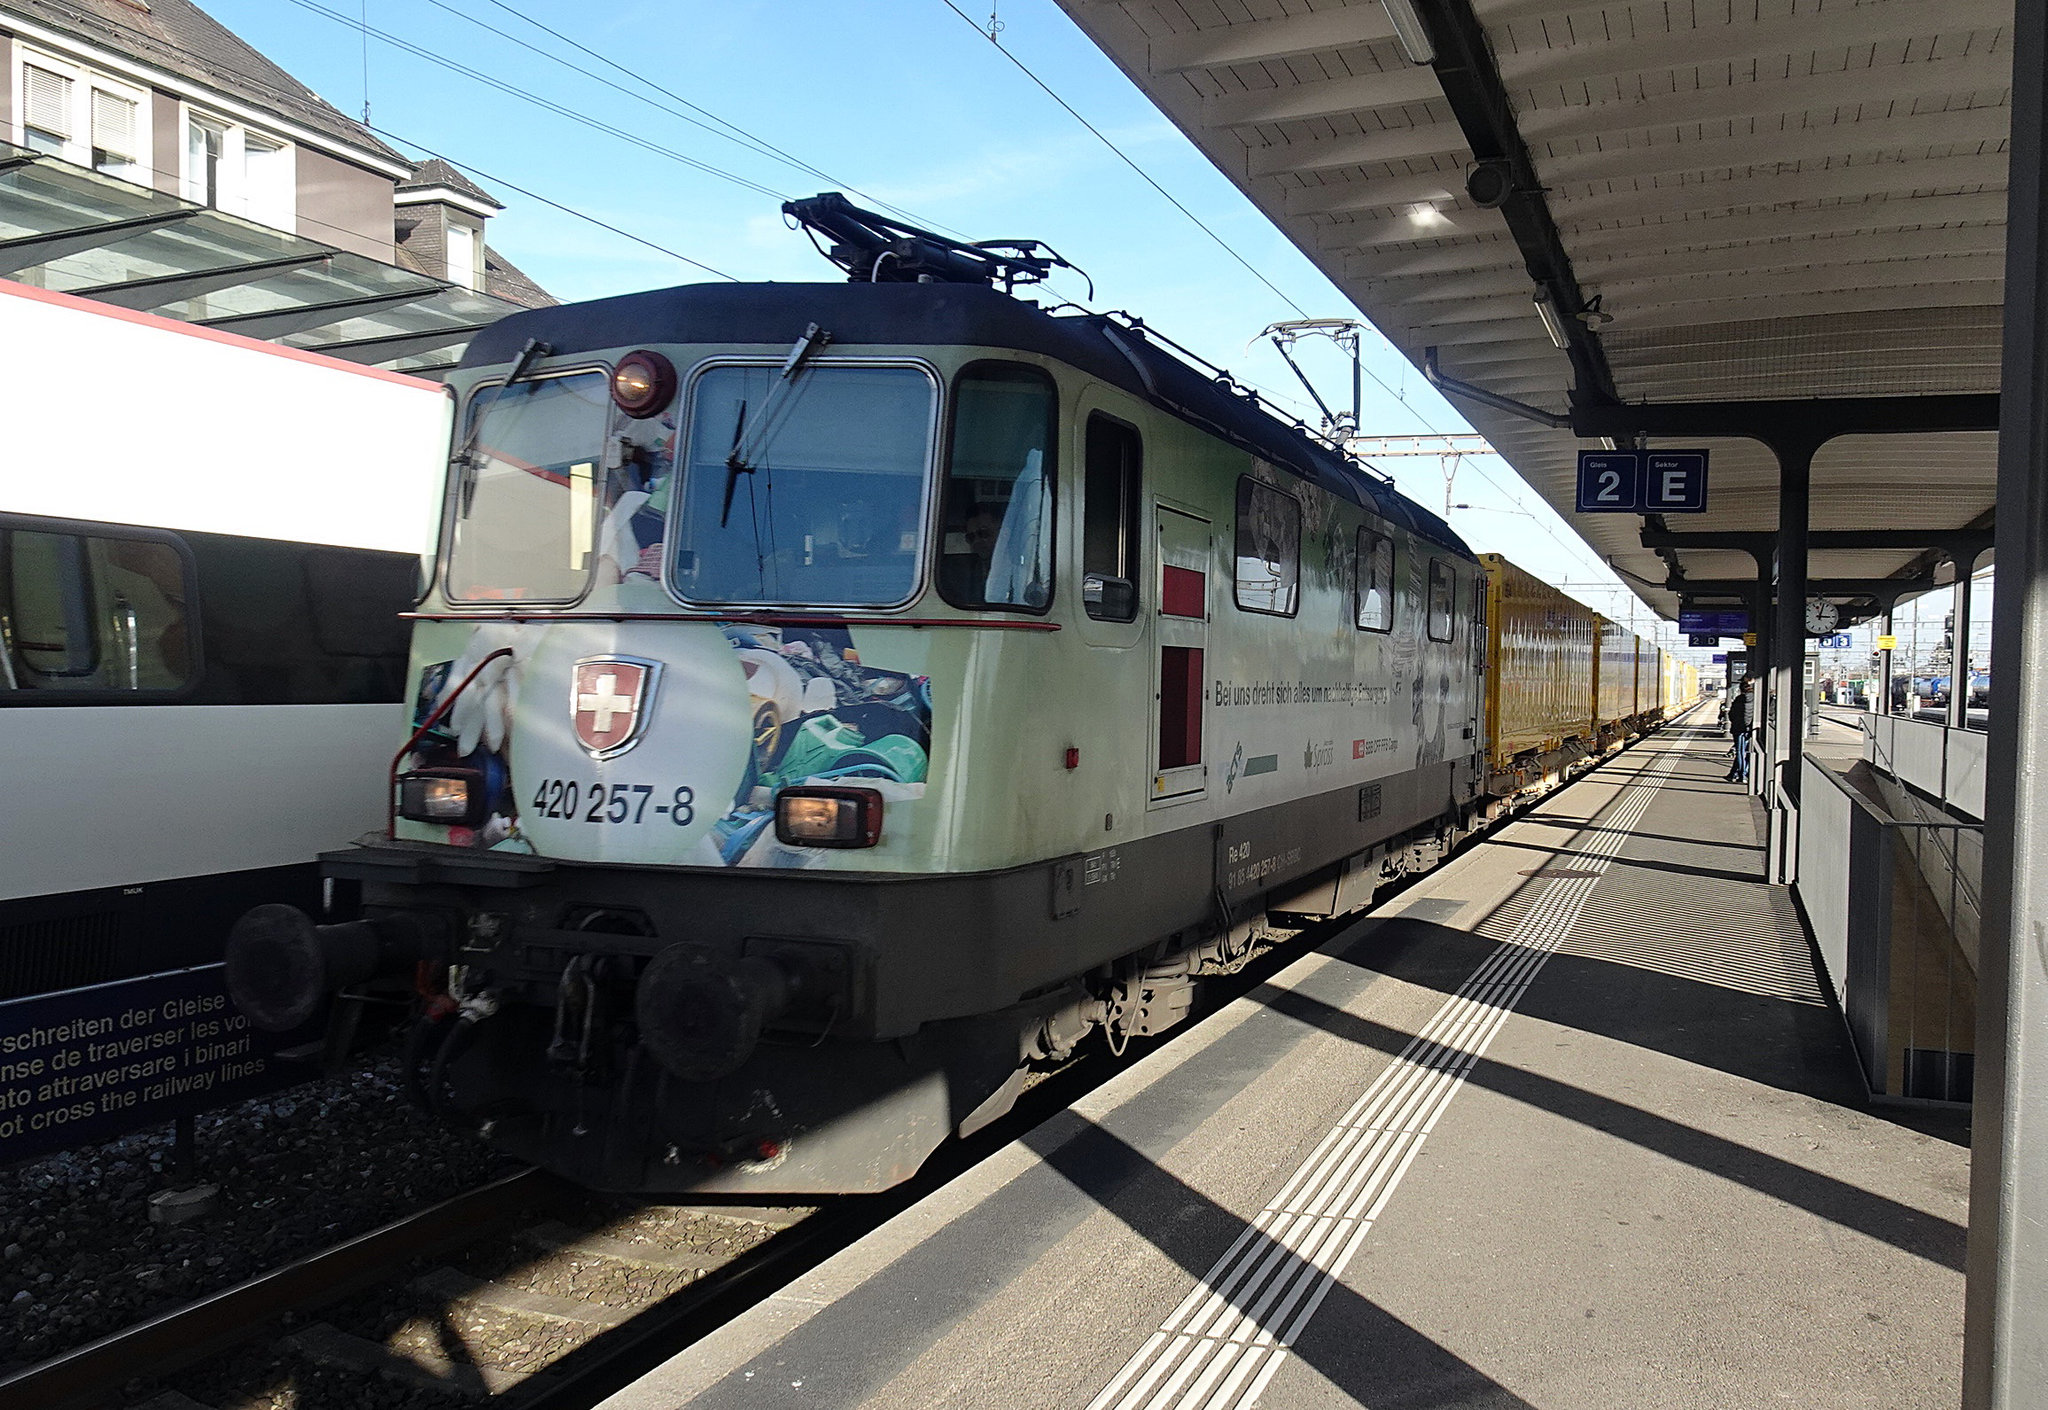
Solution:
[{"label": "locomotive's large right front windscreen reflecting blue, with wiper", "polygon": [[811,363],[793,381],[774,365],[705,371],[672,535],[676,588],[694,603],[907,603],[936,408],[918,367]]}]

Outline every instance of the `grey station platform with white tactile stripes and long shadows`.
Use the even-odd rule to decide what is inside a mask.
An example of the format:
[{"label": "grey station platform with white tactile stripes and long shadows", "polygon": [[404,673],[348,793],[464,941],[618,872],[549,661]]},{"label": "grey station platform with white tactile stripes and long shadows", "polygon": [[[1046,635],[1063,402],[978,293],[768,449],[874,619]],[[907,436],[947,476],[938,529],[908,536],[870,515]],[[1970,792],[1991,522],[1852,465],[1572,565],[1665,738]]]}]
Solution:
[{"label": "grey station platform with white tactile stripes and long shadows", "polygon": [[1864,1107],[1692,719],[608,1410],[1954,1406],[1966,1131]]}]

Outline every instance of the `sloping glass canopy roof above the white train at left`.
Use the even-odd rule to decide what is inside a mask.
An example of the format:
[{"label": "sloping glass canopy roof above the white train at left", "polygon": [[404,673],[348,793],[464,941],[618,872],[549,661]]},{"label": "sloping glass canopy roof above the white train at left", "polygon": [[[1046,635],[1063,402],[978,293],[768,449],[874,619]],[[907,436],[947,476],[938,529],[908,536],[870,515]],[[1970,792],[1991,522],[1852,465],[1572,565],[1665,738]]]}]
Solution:
[{"label": "sloping glass canopy roof above the white train at left", "polygon": [[0,279],[426,377],[520,309],[6,141]]}]

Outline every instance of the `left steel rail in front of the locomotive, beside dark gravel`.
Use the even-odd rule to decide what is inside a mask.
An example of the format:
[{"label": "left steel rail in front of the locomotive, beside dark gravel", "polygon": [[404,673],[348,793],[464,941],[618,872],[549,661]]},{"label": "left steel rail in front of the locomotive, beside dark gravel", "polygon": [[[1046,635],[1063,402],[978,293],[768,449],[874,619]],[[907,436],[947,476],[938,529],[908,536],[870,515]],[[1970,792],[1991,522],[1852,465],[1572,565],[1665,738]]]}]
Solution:
[{"label": "left steel rail in front of the locomotive, beside dark gravel", "polygon": [[569,1185],[543,1170],[508,1174],[16,1371],[0,1379],[0,1406],[63,1410],[94,1404],[135,1377],[158,1377],[203,1361],[260,1334],[285,1312],[332,1303],[377,1283],[397,1264],[473,1242],[569,1193]]}]

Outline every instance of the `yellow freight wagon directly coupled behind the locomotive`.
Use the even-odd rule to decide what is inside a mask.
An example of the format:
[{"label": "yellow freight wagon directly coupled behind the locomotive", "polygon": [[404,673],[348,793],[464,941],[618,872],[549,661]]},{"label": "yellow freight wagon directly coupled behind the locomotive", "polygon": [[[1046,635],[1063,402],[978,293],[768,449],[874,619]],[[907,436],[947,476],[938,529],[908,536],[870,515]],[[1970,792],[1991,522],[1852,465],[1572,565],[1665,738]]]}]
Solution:
[{"label": "yellow freight wagon directly coupled behind the locomotive", "polygon": [[1487,568],[1489,791],[1513,793],[1593,746],[1595,613],[1499,553]]}]

